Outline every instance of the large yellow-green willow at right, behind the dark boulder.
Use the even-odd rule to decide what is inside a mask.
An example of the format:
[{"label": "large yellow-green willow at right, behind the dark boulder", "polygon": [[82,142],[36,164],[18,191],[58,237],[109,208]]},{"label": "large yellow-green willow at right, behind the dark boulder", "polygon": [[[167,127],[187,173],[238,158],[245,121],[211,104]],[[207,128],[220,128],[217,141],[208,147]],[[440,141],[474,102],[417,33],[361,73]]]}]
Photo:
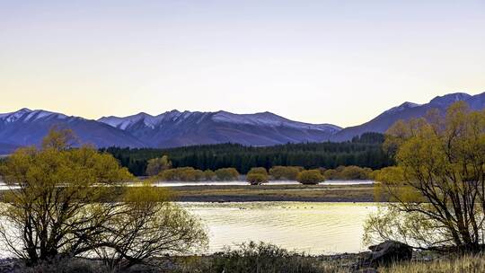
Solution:
[{"label": "large yellow-green willow at right, behind the dark boulder", "polygon": [[395,239],[417,247],[479,250],[485,221],[485,111],[454,103],[440,115],[399,121],[384,147],[397,166],[377,175],[395,202],[366,223],[366,241]]}]

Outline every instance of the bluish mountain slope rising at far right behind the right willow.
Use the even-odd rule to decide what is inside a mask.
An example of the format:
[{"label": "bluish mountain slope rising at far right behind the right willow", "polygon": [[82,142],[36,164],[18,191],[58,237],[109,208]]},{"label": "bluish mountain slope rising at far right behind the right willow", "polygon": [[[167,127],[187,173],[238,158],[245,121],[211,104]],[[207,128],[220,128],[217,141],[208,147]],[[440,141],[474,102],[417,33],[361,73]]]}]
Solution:
[{"label": "bluish mountain slope rising at far right behind the right willow", "polygon": [[384,133],[399,119],[407,120],[423,117],[428,113],[428,110],[431,109],[445,112],[445,110],[455,101],[465,101],[472,110],[482,110],[485,108],[485,92],[474,96],[463,92],[450,93],[444,96],[437,96],[425,104],[404,102],[400,106],[384,111],[375,119],[362,125],[340,130],[337,134],[331,137],[331,141],[347,141],[352,139],[352,137],[360,136],[366,132]]}]

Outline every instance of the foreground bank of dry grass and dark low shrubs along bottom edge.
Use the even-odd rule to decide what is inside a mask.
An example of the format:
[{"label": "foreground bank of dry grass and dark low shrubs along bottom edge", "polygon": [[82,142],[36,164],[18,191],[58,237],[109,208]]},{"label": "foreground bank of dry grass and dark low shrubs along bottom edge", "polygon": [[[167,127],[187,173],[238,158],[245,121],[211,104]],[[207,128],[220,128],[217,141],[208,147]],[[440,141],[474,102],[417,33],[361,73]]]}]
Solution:
[{"label": "foreground bank of dry grass and dark low shrubs along bottom edge", "polygon": [[42,273],[463,273],[485,272],[485,255],[437,256],[432,260],[413,260],[386,267],[357,268],[360,254],[304,256],[272,245],[255,244],[210,256],[173,257],[150,260],[152,265],[113,269],[101,260],[57,260],[33,268],[21,260],[0,260],[0,272]]}]

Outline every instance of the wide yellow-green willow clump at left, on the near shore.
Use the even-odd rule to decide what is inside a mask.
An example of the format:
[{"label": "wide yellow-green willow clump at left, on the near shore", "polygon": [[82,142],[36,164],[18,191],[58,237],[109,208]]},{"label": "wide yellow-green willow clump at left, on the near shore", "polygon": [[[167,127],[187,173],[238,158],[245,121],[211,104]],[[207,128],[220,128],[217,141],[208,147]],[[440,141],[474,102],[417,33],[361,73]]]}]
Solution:
[{"label": "wide yellow-green willow clump at left, on the near shore", "polygon": [[0,207],[0,239],[31,263],[98,254],[116,267],[203,246],[198,219],[135,178],[110,154],[73,148],[72,132],[53,129],[41,148],[27,147],[0,167],[10,186]]}]

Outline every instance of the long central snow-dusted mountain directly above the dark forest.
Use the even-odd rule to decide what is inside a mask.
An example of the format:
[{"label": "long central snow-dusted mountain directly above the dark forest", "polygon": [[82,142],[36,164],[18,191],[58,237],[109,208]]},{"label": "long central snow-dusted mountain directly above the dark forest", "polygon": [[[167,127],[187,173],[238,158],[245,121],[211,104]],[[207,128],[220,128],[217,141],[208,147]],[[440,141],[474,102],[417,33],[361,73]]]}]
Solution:
[{"label": "long central snow-dusted mountain directly above the dark forest", "polygon": [[328,140],[340,130],[330,124],[310,124],[285,119],[270,112],[234,114],[227,111],[172,110],[158,116],[146,113],[98,119],[124,130],[155,147],[240,143],[278,145]]}]

